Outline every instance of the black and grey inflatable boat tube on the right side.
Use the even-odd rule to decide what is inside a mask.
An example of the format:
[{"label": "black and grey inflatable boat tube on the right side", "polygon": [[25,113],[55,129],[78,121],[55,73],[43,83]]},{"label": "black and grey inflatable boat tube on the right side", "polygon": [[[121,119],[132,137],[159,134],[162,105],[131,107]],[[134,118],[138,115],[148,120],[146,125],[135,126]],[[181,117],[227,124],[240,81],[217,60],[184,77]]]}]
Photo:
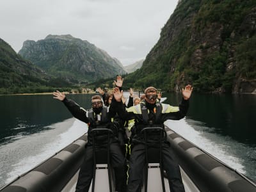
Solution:
[{"label": "black and grey inflatable boat tube on the right side", "polygon": [[167,138],[180,166],[200,191],[256,191],[255,183],[168,127]]}]

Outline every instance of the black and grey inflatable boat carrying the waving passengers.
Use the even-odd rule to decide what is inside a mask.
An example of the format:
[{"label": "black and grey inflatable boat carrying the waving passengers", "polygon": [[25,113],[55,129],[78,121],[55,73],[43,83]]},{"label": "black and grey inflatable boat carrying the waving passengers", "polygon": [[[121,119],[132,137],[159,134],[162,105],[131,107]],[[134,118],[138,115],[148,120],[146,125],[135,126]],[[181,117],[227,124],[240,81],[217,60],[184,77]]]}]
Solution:
[{"label": "black and grey inflatable boat carrying the waving passengers", "polygon": [[[237,172],[216,157],[182,138],[169,127],[164,128],[167,140],[179,159],[182,180],[186,192],[198,191],[241,191],[255,192],[253,180]],[[3,186],[1,192],[67,192],[75,191],[79,167],[83,162],[84,145],[87,134],[84,134],[67,147],[38,164],[17,179]],[[148,163],[147,181],[141,191],[170,191],[168,180],[161,174],[157,163]],[[111,166],[97,164],[95,178],[90,191],[115,191],[115,180],[110,175]],[[163,178],[161,178],[163,177]],[[110,182],[109,182],[110,181]]]}]

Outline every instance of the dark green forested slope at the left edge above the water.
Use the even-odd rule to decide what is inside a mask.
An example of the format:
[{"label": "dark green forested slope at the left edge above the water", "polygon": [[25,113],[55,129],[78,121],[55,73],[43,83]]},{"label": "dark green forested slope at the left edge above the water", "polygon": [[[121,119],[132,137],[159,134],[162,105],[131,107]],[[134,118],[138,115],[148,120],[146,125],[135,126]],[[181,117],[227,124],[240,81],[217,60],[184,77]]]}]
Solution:
[{"label": "dark green forested slope at the left edge above the water", "polygon": [[0,94],[52,92],[52,87],[63,86],[70,84],[48,76],[0,38]]}]

